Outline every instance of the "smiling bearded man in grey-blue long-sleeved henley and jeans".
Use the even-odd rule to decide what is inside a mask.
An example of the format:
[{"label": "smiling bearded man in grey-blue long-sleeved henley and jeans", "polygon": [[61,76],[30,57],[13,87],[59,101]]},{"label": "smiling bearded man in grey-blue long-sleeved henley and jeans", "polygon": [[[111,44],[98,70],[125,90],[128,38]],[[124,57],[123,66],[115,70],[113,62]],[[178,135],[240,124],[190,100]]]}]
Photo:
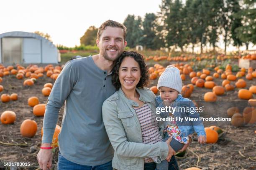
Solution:
[{"label": "smiling bearded man in grey-blue long-sleeved henley and jeans", "polygon": [[111,70],[127,45],[125,36],[123,24],[108,20],[97,33],[100,53],[71,60],[64,66],[46,105],[41,145],[44,149],[37,155],[41,169],[52,165],[52,151],[48,148],[59,109],[66,101],[59,134],[59,170],[112,170],[113,148],[102,121],[102,104],[115,92]]}]

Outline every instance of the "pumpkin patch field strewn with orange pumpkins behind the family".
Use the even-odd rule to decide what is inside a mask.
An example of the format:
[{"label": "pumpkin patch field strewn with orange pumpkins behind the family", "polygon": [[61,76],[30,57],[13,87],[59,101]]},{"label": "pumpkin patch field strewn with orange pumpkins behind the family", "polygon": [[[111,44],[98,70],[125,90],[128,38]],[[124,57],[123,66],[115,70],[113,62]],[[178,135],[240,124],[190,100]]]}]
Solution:
[{"label": "pumpkin patch field strewn with orange pumpkins behind the family", "polygon": [[[181,94],[202,108],[207,142],[201,145],[197,135],[192,135],[189,148],[176,155],[180,170],[255,169],[255,68],[238,68],[237,60],[202,67],[198,60],[176,59],[146,57],[146,64],[148,88],[156,95],[159,76],[167,65],[174,65],[182,78]],[[15,162],[23,163],[15,169],[40,169],[36,155],[41,146],[45,106],[60,72],[58,65],[0,65],[0,169],[8,169],[6,163]],[[63,112],[61,107],[53,139],[54,170]]]}]

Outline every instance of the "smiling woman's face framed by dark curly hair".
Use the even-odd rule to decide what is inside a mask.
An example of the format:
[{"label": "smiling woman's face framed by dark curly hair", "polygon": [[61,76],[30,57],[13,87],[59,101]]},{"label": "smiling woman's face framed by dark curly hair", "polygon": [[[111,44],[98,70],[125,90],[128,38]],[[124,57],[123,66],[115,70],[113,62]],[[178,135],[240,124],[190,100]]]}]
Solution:
[{"label": "smiling woman's face framed by dark curly hair", "polygon": [[125,57],[119,67],[119,80],[122,90],[135,90],[140,81],[141,69],[132,57]]}]

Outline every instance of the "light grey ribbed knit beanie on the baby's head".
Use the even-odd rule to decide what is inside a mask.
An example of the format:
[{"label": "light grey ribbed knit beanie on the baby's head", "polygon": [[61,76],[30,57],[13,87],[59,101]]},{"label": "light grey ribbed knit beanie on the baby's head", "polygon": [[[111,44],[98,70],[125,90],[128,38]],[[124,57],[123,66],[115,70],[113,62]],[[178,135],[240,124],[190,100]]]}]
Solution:
[{"label": "light grey ribbed knit beanie on the baby's head", "polygon": [[182,89],[182,80],[179,74],[179,69],[172,65],[168,65],[164,72],[159,77],[157,89],[160,87],[169,87],[177,90],[179,93]]}]

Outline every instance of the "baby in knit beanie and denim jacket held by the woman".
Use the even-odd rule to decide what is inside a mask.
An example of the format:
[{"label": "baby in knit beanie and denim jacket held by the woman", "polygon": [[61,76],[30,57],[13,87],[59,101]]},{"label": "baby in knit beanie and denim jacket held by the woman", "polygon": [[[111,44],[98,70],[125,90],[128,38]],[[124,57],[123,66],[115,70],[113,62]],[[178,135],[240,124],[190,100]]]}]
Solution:
[{"label": "baby in knit beanie and denim jacket held by the woman", "polygon": [[[168,112],[161,112],[161,117],[169,117],[164,121],[164,140],[172,137],[171,147],[177,152],[189,143],[189,135],[197,133],[198,142],[205,143],[206,135],[202,121],[199,120],[199,113],[195,112],[194,103],[182,97],[182,80],[179,69],[172,65],[166,67],[158,80],[157,88],[160,96],[156,97],[156,107],[168,108]],[[166,109],[165,109],[166,110]],[[171,112],[169,112],[171,110]],[[185,117],[197,118],[197,121],[185,120]],[[182,119],[183,118],[183,119]],[[154,158],[153,158],[154,160]],[[156,164],[157,170],[168,170],[167,160]]]}]

